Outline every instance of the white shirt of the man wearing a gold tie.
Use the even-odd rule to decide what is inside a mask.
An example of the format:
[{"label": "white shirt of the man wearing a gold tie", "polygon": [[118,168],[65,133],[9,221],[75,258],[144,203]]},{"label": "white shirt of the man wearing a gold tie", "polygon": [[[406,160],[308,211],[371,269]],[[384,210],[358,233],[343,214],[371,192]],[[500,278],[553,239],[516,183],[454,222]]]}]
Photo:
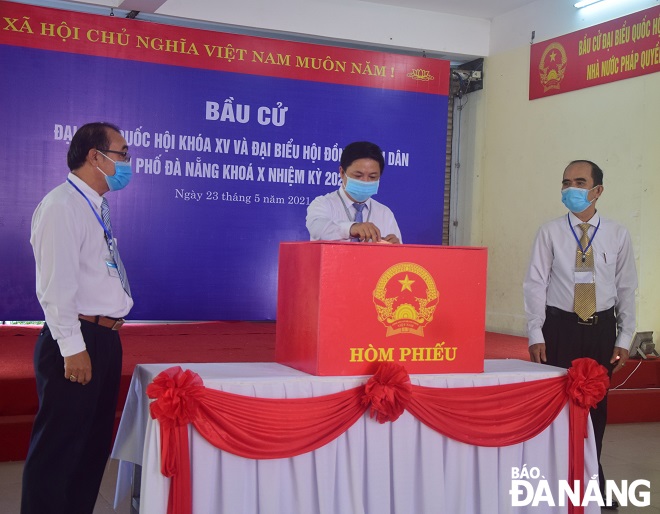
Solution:
[{"label": "white shirt of the man wearing a gold tie", "polygon": [[[530,345],[544,342],[541,328],[545,322],[546,305],[573,312],[578,244],[571,226],[579,239],[582,235],[580,223],[582,221],[573,213],[568,213],[568,217],[562,216],[542,225],[536,235],[523,284]],[[598,213],[588,223],[591,225],[588,234],[594,255],[596,311],[615,308],[616,346],[628,349],[635,332],[637,289],[630,234],[623,225],[601,218]]]}]

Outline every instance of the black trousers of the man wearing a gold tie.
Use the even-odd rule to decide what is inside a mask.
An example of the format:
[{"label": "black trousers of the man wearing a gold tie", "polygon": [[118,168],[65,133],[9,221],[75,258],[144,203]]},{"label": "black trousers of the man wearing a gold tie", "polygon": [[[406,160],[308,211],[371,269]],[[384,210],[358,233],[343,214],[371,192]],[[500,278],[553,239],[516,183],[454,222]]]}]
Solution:
[{"label": "black trousers of the man wearing a gold tie", "polygon": [[[548,307],[543,325],[547,364],[568,369],[573,360],[591,357],[605,366],[611,378],[614,365],[610,364],[610,359],[616,343],[616,316],[614,309],[597,313],[597,316],[597,323],[584,325],[578,322],[577,314]],[[598,479],[603,490],[605,477],[600,452],[607,424],[607,395],[591,409],[590,414],[598,455]]]}]

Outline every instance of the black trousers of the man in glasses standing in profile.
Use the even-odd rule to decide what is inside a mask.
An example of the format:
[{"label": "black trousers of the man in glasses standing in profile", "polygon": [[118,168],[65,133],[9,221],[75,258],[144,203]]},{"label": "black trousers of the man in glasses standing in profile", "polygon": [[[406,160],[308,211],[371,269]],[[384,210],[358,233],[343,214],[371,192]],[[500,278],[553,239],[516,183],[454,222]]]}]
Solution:
[{"label": "black trousers of the man in glasses standing in profile", "polygon": [[112,433],[121,379],[117,331],[81,321],[92,362],[87,385],[64,378],[47,325],[34,351],[39,410],[23,469],[21,514],[92,514]]}]

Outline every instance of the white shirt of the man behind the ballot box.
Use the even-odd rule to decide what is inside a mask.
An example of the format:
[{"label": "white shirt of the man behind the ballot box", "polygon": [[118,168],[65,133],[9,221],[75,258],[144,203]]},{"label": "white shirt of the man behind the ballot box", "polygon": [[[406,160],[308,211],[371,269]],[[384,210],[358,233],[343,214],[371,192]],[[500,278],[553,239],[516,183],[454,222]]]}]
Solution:
[{"label": "white shirt of the man behind the ballot box", "polygon": [[[394,234],[401,239],[401,231],[392,211],[370,198],[365,202],[362,221],[370,221],[378,227],[381,236]],[[353,200],[340,187],[337,191],[317,196],[307,207],[307,230],[311,241],[349,241],[351,226],[355,223],[357,210]]]}]

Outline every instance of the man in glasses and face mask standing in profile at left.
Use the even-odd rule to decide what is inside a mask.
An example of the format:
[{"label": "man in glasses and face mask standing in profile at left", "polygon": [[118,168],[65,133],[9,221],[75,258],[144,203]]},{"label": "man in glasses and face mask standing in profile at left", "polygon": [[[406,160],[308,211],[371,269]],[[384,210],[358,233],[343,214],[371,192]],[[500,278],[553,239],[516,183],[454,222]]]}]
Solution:
[{"label": "man in glasses and face mask standing in profile at left", "polygon": [[116,126],[82,126],[67,155],[71,173],[32,218],[46,323],[35,347],[39,411],[23,470],[22,514],[94,510],[119,393],[118,330],[133,306],[103,198],[130,181],[127,150]]}]

